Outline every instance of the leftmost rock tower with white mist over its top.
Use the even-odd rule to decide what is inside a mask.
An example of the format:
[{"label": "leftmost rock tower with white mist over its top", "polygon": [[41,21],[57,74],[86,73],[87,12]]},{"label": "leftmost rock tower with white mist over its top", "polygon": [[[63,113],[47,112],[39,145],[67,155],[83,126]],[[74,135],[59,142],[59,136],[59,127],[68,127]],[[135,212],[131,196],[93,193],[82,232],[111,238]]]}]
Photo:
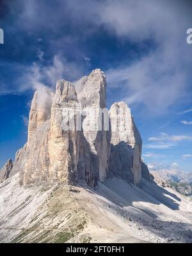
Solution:
[{"label": "leftmost rock tower with white mist over its top", "polygon": [[47,87],[35,92],[29,113],[28,142],[20,168],[20,183],[46,181],[49,176],[49,133],[53,94]]}]

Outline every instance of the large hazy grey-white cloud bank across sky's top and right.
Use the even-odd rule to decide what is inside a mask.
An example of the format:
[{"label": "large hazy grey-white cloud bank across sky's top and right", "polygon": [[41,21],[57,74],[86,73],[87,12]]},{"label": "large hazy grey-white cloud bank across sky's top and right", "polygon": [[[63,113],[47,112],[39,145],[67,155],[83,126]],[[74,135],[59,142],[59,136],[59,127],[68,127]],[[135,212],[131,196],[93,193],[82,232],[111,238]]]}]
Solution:
[{"label": "large hazy grey-white cloud bank across sky's top and right", "polygon": [[[78,24],[86,38],[102,26],[122,43],[129,40],[142,48],[146,41],[150,42],[148,53],[144,50],[143,54],[135,55],[134,61],[131,57],[109,68],[106,77],[109,89],[124,88],[124,98],[119,100],[143,104],[149,111],[163,114],[170,105],[191,96],[187,80],[191,75],[188,64],[192,48],[186,44],[191,14],[183,2],[175,1],[172,5],[166,0],[84,0],[78,5],[77,1],[57,0],[52,12],[52,5],[46,5],[45,1],[26,0],[19,1],[23,8],[15,23],[21,30],[46,29],[50,33],[67,24],[74,28]],[[12,12],[15,9],[13,6]],[[58,41],[51,41],[51,47],[73,46],[77,39],[72,37],[63,35]],[[77,46],[70,50],[74,56],[86,56],[79,53]]]}]

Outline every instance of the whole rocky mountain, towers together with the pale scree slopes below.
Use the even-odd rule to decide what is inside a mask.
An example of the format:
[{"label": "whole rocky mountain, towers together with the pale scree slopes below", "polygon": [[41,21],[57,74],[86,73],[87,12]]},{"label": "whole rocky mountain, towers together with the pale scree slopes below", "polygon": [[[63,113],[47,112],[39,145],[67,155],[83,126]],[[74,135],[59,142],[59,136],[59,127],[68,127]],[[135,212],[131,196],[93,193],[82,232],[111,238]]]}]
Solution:
[{"label": "whole rocky mountain, towers together with the pale scree slopes below", "polygon": [[95,69],[35,92],[28,142],[0,172],[0,242],[192,241],[191,200],[153,181],[125,102],[104,120],[106,86]]}]

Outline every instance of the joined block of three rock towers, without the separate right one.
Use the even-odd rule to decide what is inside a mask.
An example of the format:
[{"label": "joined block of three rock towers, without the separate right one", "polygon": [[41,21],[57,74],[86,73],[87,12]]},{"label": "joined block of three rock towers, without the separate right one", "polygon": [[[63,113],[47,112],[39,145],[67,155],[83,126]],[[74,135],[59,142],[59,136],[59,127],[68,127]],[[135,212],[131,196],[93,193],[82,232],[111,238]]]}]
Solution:
[{"label": "joined block of three rock towers, without the separate right one", "polygon": [[[96,69],[88,77],[81,78],[76,89],[72,82],[60,80],[54,95],[44,89],[46,96],[40,102],[36,91],[29,114],[21,184],[81,180],[95,186],[97,181],[106,180],[111,131],[110,125],[109,131],[104,131],[99,123],[100,109],[106,107],[106,78]],[[81,124],[74,122],[74,127],[68,127],[66,120],[69,122],[73,118],[70,113],[77,121],[82,111]]]}]

